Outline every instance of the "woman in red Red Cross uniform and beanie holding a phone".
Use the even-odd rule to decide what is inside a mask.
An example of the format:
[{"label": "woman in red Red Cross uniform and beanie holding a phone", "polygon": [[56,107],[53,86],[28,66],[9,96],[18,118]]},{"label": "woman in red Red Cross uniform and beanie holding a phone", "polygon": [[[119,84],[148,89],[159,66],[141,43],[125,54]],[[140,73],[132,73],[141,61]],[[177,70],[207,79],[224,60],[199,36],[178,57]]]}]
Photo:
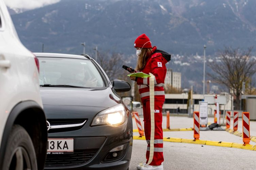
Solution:
[{"label": "woman in red Red Cross uniform and beanie holding a phone", "polygon": [[137,49],[138,62],[136,70],[155,76],[155,139],[154,139],[154,156],[149,165],[149,148],[150,148],[150,102],[149,102],[149,78],[131,77],[131,80],[137,82],[141,101],[143,104],[144,130],[147,140],[146,164],[137,166],[141,170],[163,170],[163,130],[162,130],[162,106],[164,103],[164,79],[166,75],[165,64],[171,60],[171,55],[158,50],[156,46],[152,48],[149,38],[142,34],[134,42]]}]

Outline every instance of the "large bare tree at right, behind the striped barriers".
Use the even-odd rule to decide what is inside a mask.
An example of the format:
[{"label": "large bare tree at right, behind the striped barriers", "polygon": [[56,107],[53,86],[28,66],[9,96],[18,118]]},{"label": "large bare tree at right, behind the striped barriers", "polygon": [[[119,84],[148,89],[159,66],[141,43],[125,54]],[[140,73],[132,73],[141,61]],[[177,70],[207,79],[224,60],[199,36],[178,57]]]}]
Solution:
[{"label": "large bare tree at right, behind the striped barriers", "polygon": [[236,96],[236,109],[240,107],[242,82],[248,81],[256,73],[256,60],[251,56],[252,49],[242,51],[239,48],[225,47],[219,51],[216,61],[208,63],[215,73],[208,73],[208,76],[223,84],[231,95]]}]

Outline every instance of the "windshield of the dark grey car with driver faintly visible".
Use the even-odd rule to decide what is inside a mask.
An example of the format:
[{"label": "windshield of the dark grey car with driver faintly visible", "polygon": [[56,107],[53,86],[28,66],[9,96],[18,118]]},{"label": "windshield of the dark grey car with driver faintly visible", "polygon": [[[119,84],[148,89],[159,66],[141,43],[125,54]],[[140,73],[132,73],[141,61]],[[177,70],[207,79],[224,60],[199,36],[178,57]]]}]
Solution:
[{"label": "windshield of the dark grey car with driver faintly visible", "polygon": [[67,85],[66,87],[85,88],[105,86],[99,71],[91,60],[54,57],[38,57],[38,60],[40,85]]}]

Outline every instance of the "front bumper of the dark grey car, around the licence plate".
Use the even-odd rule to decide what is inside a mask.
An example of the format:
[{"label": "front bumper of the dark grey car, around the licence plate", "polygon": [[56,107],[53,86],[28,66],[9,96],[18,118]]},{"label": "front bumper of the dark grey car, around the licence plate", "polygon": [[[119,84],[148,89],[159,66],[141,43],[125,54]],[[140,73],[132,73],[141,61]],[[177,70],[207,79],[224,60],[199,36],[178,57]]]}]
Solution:
[{"label": "front bumper of the dark grey car, around the licence plate", "polygon": [[[128,169],[132,152],[131,116],[118,127],[93,126],[87,122],[81,129],[69,132],[49,133],[49,138],[74,138],[74,153],[47,155],[45,169]],[[106,160],[109,151],[124,145],[117,156]]]}]

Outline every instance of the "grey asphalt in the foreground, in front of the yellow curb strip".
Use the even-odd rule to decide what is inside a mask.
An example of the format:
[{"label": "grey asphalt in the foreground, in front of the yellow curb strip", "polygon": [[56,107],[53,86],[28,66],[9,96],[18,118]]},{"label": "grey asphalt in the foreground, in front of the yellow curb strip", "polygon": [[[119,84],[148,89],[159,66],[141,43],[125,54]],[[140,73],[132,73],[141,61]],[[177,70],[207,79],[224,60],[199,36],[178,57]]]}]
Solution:
[{"label": "grey asphalt in the foreground, in front of the yellow curb strip", "polygon": [[[146,147],[145,140],[133,140],[129,170],[145,161]],[[256,169],[256,151],[251,150],[164,142],[163,154],[164,170]]]}]

